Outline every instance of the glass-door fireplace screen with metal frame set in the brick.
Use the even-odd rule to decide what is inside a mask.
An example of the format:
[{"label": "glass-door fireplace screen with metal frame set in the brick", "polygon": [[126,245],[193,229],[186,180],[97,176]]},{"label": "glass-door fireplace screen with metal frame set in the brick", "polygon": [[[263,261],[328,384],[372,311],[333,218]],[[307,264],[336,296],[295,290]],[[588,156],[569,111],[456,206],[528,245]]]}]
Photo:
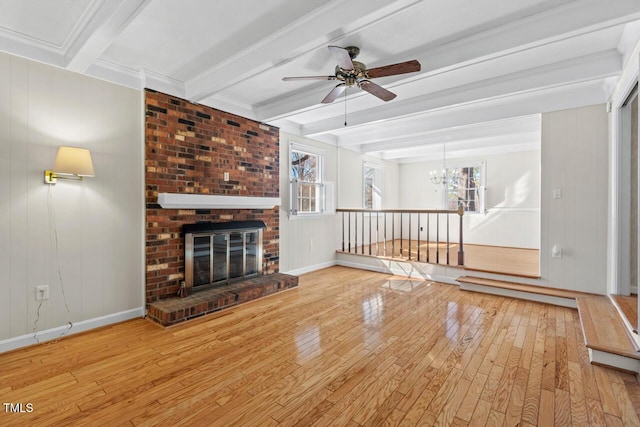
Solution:
[{"label": "glass-door fireplace screen with metal frame set in the brick", "polygon": [[[223,223],[224,224],[224,223]],[[262,223],[263,224],[263,223]],[[221,227],[222,224],[215,224],[215,227]],[[220,229],[214,229],[214,230],[202,230],[202,231],[186,231],[184,232],[184,244],[185,244],[185,272],[184,272],[184,277],[185,277],[185,286],[187,288],[192,288],[192,289],[203,289],[203,288],[207,288],[210,286],[215,286],[218,284],[226,284],[229,282],[233,282],[236,280],[241,280],[243,278],[248,278],[248,277],[255,277],[255,276],[259,276],[262,275],[262,265],[263,265],[263,228],[264,225],[260,226],[255,226],[255,224],[250,224],[246,227],[242,227],[242,226],[238,226],[237,224],[234,224],[234,227],[230,227],[230,228],[220,228]],[[198,228],[202,228],[202,227],[198,227]],[[257,236],[257,241],[252,242],[250,240],[250,235],[255,234]],[[238,255],[236,254],[235,258],[232,258],[232,252],[238,251],[238,243],[239,240],[237,239],[238,235],[240,235],[241,237],[241,248],[242,248],[242,258],[241,258],[241,275],[234,275],[233,277],[233,271],[237,270],[234,269],[234,266],[237,266],[237,262],[239,260]],[[216,239],[216,236],[223,236],[224,237],[224,242],[226,243],[226,259],[224,261],[224,265],[222,266],[223,269],[226,270],[226,272],[223,274],[223,277],[220,278],[220,274],[216,274],[219,271],[219,264],[220,262],[215,262],[214,258],[216,258],[216,255],[219,255],[219,249],[220,249],[220,239]],[[205,248],[204,249],[198,249],[197,245],[196,245],[196,239],[198,238],[208,238],[208,245],[204,245]],[[235,240],[232,241],[232,237],[235,238]],[[236,245],[233,245],[233,243],[235,243]],[[217,245],[217,246],[216,246]],[[255,254],[251,254],[249,252],[249,247],[253,247],[255,246]],[[194,268],[195,268],[195,258],[197,257],[197,252],[207,252],[208,253],[208,257],[209,257],[209,262],[208,262],[208,268],[209,268],[209,274],[208,274],[208,282],[207,283],[197,283],[195,284],[194,282],[195,277],[194,277]],[[205,257],[207,256],[207,253],[205,253]],[[247,260],[251,259],[251,255],[254,255],[255,257],[255,266],[253,265],[248,265]],[[200,257],[202,257],[202,255],[200,255]],[[235,262],[234,262],[235,261]],[[217,270],[216,270],[217,269]],[[252,271],[255,270],[255,272],[251,272],[247,274],[247,271]],[[197,281],[197,282],[201,282],[201,281]]]}]

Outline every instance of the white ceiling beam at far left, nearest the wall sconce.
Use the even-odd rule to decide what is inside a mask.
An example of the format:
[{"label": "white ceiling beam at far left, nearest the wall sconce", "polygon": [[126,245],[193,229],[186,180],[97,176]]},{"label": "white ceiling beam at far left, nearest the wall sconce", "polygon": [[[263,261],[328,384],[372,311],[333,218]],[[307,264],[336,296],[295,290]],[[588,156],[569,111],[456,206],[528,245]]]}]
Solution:
[{"label": "white ceiling beam at far left, nearest the wall sconce", "polygon": [[65,52],[65,67],[84,72],[151,0],[103,0]]}]

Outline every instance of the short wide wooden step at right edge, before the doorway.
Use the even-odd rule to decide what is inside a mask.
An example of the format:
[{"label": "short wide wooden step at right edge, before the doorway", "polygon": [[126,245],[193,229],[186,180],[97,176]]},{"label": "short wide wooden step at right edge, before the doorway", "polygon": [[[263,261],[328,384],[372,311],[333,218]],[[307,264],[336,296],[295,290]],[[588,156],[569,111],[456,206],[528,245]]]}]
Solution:
[{"label": "short wide wooden step at right edge, before the doorway", "polygon": [[588,349],[640,361],[640,347],[630,336],[618,310],[608,297],[581,296],[577,298],[577,305],[584,342]]}]

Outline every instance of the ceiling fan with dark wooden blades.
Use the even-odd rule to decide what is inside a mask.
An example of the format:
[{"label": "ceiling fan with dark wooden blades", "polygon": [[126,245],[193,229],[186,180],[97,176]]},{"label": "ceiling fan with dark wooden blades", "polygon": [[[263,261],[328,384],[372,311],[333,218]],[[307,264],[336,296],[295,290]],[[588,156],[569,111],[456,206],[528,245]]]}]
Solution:
[{"label": "ceiling fan with dark wooden blades", "polygon": [[358,86],[360,89],[369,92],[383,101],[391,101],[396,94],[379,86],[369,79],[376,77],[395,76],[398,74],[414,73],[420,71],[420,63],[411,60],[398,64],[384,65],[367,69],[362,62],[354,61],[360,53],[360,48],[355,46],[339,47],[329,46],[329,51],[338,62],[333,76],[306,76],[306,77],[283,77],[284,81],[294,80],[340,80],[342,83],[334,87],[322,100],[323,104],[330,104],[335,101],[347,87]]}]

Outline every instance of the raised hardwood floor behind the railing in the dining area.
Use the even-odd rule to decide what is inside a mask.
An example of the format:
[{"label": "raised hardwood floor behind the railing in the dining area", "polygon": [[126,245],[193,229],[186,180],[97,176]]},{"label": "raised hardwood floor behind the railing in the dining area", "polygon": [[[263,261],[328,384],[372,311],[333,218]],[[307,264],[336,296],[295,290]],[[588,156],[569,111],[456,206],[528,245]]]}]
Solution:
[{"label": "raised hardwood floor behind the railing in the dining area", "polygon": [[[353,246],[352,252],[369,255],[369,245],[362,247]],[[447,246],[445,243],[420,242],[420,261],[427,262],[427,250],[429,262],[432,264],[447,264]],[[340,252],[340,251],[339,251]],[[348,247],[345,247],[348,253]],[[464,263],[467,270],[485,271],[490,273],[509,274],[520,277],[540,277],[540,255],[538,249],[509,248],[503,246],[488,245],[464,245]],[[393,255],[392,255],[393,254]],[[396,239],[385,243],[371,244],[371,255],[388,258],[409,258],[409,240]],[[437,256],[438,255],[438,256]],[[411,241],[411,259],[418,259],[418,242]],[[458,245],[449,244],[449,263],[457,265]]]}]

